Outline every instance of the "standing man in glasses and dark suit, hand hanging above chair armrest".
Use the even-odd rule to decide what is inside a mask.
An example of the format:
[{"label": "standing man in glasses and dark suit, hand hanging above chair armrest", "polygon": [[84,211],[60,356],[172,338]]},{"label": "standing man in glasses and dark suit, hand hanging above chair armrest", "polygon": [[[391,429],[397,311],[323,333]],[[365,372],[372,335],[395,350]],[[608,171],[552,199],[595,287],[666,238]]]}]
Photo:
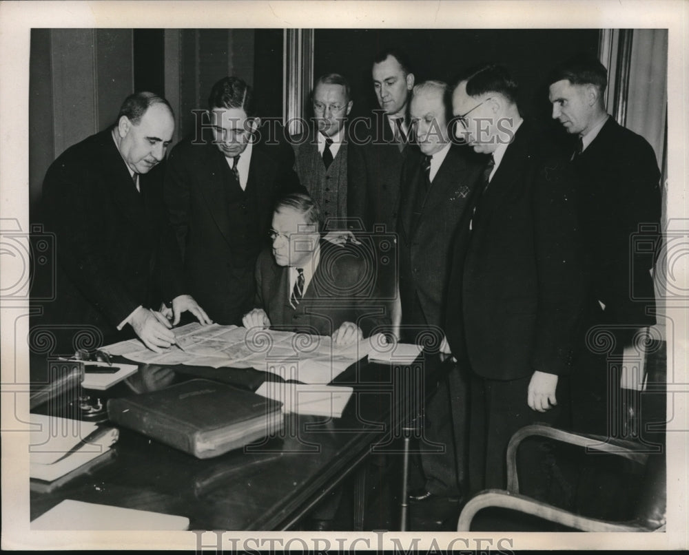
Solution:
[{"label": "standing man in glasses and dark suit, hand hanging above chair armrest", "polygon": [[[566,160],[546,156],[516,96],[496,65],[466,72],[453,92],[458,134],[491,155],[455,242],[446,313],[451,351],[472,370],[474,492],[506,486],[507,443],[519,428],[566,424],[583,302],[573,180]],[[548,487],[550,462],[544,444],[520,450],[527,491]]]}]

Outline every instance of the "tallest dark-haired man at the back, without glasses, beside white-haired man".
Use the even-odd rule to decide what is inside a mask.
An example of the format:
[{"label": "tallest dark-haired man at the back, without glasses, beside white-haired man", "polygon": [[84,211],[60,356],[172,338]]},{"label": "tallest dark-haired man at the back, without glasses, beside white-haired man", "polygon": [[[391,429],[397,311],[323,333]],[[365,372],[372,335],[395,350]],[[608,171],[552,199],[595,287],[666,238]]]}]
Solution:
[{"label": "tallest dark-haired man at the back, without glasses, beside white-haired man", "polygon": [[[409,121],[409,98],[414,86],[414,74],[407,55],[397,48],[383,50],[373,59],[373,89],[380,110],[373,112],[368,134],[363,126],[353,125],[352,142],[362,145],[349,159],[350,217],[362,218],[368,231],[392,233],[397,225],[400,199],[402,161],[413,150],[413,131]],[[382,251],[389,237],[375,240],[382,264],[378,271],[378,286],[383,298],[390,300],[395,328],[400,322],[400,307],[395,297],[398,267],[394,252]]]}]

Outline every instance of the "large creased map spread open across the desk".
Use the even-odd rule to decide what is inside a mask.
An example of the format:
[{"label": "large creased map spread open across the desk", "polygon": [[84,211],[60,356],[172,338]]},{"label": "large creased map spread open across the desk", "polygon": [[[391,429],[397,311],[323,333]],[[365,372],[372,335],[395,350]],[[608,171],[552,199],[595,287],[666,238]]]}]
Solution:
[{"label": "large creased map spread open across the desk", "polygon": [[351,364],[374,350],[388,349],[383,335],[373,335],[345,348],[325,335],[278,330],[247,330],[238,326],[197,322],[174,330],[176,345],[154,353],[138,339],[103,348],[144,364],[188,364],[220,368],[256,368],[305,384],[329,384]]}]

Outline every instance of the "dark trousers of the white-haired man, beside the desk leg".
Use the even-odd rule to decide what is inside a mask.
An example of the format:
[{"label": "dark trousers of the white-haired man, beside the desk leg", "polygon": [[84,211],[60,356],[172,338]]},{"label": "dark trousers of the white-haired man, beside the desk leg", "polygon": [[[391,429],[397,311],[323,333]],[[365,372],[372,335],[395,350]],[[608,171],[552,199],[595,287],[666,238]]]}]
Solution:
[{"label": "dark trousers of the white-haired man, beside the desk leg", "polygon": [[[449,363],[448,363],[449,364]],[[424,438],[438,448],[420,443],[425,489],[435,495],[460,496],[466,488],[466,439],[469,380],[466,372],[452,364],[426,403]]]}]

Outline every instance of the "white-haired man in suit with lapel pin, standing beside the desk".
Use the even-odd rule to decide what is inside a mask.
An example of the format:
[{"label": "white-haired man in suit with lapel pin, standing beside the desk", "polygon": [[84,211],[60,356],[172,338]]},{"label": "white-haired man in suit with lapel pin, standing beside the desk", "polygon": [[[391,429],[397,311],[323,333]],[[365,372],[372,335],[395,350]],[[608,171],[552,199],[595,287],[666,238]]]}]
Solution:
[{"label": "white-haired man in suit with lapel pin, standing beside the desk", "polygon": [[[415,85],[411,121],[419,151],[402,165],[398,244],[400,249],[401,336],[405,342],[444,339],[444,300],[451,244],[467,202],[481,174],[477,156],[453,145],[449,122],[449,90],[442,81]],[[462,494],[466,437],[466,383],[453,367],[426,406],[424,435],[444,452],[424,448],[425,483],[412,492],[413,501]]]}]

